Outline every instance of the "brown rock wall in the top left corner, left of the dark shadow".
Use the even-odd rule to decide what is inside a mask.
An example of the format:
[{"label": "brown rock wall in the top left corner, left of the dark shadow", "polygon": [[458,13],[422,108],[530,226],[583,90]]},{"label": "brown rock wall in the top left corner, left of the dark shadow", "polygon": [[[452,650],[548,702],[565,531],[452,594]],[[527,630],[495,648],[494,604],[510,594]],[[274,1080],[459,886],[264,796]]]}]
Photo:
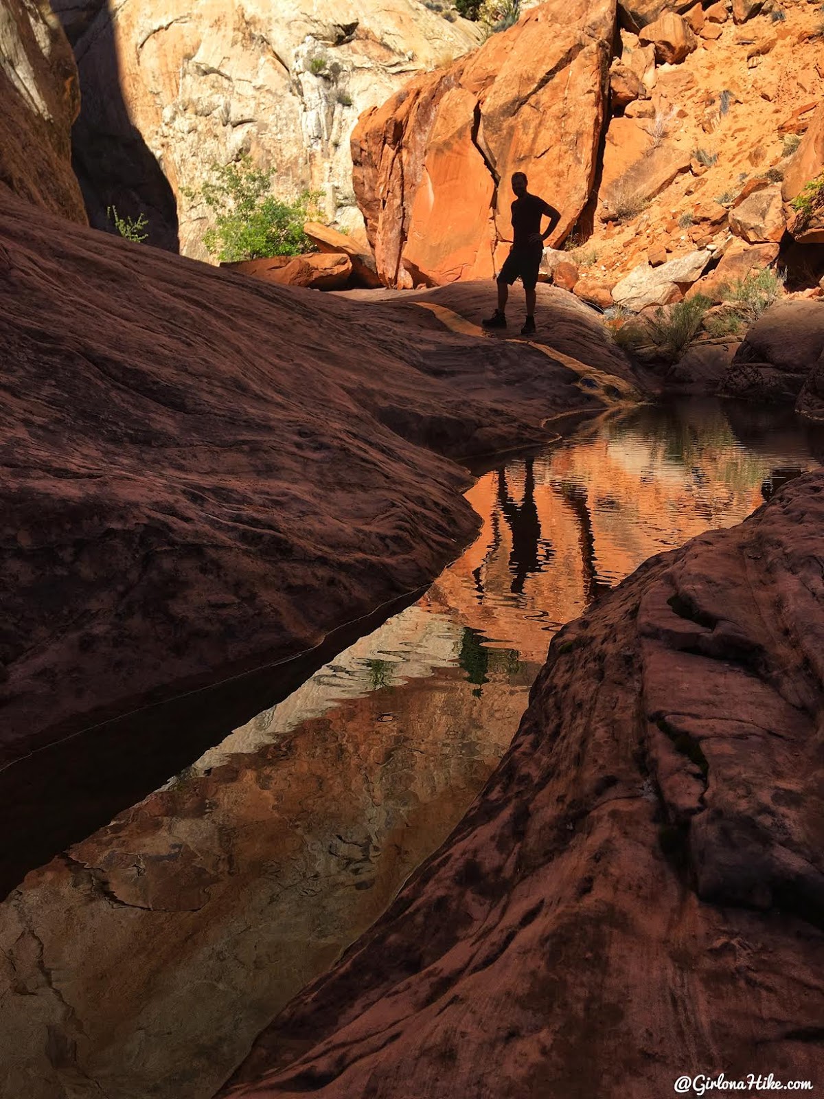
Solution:
[{"label": "brown rock wall in the top left corner, left of the dark shadow", "polygon": [[70,163],[79,108],[75,59],[48,4],[0,0],[0,195],[86,221]]}]

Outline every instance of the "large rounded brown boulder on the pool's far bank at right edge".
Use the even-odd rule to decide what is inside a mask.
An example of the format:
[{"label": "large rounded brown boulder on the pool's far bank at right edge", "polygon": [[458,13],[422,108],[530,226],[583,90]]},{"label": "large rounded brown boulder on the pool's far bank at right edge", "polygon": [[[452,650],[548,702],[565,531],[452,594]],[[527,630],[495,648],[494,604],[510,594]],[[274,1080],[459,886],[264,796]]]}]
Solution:
[{"label": "large rounded brown boulder on the pool's far bank at right edge", "polygon": [[[819,370],[823,352],[824,302],[778,302],[747,330],[722,390],[735,397],[794,401],[813,368]],[[813,402],[805,398],[805,403]]]}]

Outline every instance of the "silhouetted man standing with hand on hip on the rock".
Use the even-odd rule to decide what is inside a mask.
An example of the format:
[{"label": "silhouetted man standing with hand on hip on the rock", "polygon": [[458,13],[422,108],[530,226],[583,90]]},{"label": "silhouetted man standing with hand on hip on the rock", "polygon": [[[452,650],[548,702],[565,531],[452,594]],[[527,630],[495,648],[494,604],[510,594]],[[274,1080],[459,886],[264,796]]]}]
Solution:
[{"label": "silhouetted man standing with hand on hip on the rock", "polygon": [[[526,323],[521,329],[522,336],[532,335],[535,331],[535,284],[544,255],[544,241],[560,221],[555,207],[544,202],[537,195],[530,195],[526,190],[527,182],[523,171],[516,171],[512,177],[512,190],[515,192],[515,201],[512,203],[512,247],[498,276],[498,309],[481,322],[485,329],[506,328],[506,299],[510,287],[520,277],[526,292]],[[542,233],[541,220],[544,217],[549,219],[549,226]]]}]

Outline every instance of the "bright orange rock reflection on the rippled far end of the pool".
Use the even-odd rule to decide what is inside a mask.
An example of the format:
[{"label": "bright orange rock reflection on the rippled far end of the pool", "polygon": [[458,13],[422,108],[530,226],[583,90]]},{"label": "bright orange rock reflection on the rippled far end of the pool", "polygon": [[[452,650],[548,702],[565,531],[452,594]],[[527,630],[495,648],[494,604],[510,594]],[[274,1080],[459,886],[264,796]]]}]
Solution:
[{"label": "bright orange rock reflection on the rippled far end of the pool", "polygon": [[[521,592],[512,590],[516,547],[500,475],[480,478],[467,493],[483,521],[480,534],[435,582],[433,604],[502,646],[516,645],[523,659],[543,662],[552,632],[647,557],[739,522],[761,503],[760,466],[715,406],[697,404],[694,417],[694,426],[688,417],[671,432],[646,423],[643,411],[602,420],[535,459],[539,541]],[[525,468],[512,463],[506,473],[521,507]]]}]

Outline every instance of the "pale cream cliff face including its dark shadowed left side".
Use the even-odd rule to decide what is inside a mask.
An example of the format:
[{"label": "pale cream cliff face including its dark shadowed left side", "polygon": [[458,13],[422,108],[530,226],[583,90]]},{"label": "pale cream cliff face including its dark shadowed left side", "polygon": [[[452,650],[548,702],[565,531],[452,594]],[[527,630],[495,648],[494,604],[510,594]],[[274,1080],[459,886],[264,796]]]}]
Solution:
[{"label": "pale cream cliff face including its dark shadowed left side", "polygon": [[180,251],[198,258],[205,208],[186,188],[242,153],[271,166],[285,195],[320,190],[325,218],[363,226],[349,153],[358,114],[478,38],[475,24],[420,0],[55,0],[55,10],[80,69],[76,148],[92,220],[120,197],[171,246],[159,166]]}]

